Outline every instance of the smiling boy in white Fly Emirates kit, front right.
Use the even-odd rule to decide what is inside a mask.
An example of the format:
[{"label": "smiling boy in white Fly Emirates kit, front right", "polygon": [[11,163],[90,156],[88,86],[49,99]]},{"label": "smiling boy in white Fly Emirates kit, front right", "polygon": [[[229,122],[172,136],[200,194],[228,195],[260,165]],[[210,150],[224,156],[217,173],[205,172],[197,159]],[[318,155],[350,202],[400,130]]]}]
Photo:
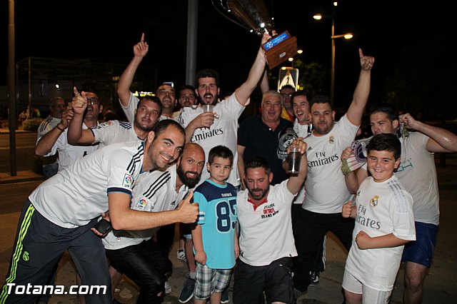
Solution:
[{"label": "smiling boy in white Fly Emirates kit, front right", "polygon": [[393,134],[378,134],[367,146],[368,171],[356,205],[341,215],[355,218],[353,245],[343,278],[346,303],[388,303],[406,243],[416,240],[413,198],[393,171],[400,165],[401,143]]}]

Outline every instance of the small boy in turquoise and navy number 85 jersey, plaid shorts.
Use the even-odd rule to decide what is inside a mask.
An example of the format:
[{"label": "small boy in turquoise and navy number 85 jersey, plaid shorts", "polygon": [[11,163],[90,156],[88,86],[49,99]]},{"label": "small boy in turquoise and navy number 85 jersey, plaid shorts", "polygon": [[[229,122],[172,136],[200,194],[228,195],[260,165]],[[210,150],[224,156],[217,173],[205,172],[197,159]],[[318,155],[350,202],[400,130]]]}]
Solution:
[{"label": "small boy in turquoise and navy number 85 jersey, plaid shorts", "polygon": [[221,302],[221,293],[230,282],[231,269],[238,258],[236,236],[236,188],[227,183],[233,153],[226,146],[209,151],[210,177],[195,189],[194,201],[199,203],[199,221],[192,230],[194,240],[196,285],[194,303]]}]

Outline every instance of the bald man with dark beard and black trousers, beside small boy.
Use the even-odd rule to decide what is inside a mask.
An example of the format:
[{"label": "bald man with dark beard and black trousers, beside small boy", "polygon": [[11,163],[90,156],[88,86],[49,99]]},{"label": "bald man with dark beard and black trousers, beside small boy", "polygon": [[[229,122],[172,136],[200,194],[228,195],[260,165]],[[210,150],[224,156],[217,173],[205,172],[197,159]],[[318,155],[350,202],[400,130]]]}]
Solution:
[{"label": "bald man with dark beard and black trousers, beside small boy", "polygon": [[[131,208],[137,211],[169,213],[194,188],[204,168],[205,153],[196,143],[186,143],[178,162],[165,172],[144,173],[133,188]],[[166,273],[172,265],[152,236],[159,227],[142,231],[111,231],[103,243],[106,256],[120,273],[140,288],[137,303],[159,303]]]}]

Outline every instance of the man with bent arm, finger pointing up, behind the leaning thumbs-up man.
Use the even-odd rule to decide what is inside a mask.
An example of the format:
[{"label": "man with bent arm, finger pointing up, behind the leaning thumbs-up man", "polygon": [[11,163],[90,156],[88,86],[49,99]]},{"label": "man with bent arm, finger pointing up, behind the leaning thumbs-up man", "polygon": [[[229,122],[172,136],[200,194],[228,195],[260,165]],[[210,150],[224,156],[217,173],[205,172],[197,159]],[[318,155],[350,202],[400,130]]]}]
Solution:
[{"label": "man with bent arm, finger pointing up, behind the leaning thumbs-up man", "polygon": [[75,97],[72,99],[74,116],[69,123],[68,141],[73,145],[87,145],[100,143],[101,146],[121,141],[144,140],[157,122],[161,113],[161,103],[155,96],[141,98],[139,107],[135,111],[135,121],[106,121],[98,126],[83,130],[82,118],[87,106],[86,93],[81,94],[74,88]]}]

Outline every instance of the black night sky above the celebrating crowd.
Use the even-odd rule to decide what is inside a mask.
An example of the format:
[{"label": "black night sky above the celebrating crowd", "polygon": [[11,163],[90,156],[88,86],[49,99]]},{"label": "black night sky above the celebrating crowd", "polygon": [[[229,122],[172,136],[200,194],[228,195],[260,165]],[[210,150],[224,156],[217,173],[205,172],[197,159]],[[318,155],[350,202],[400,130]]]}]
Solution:
[{"label": "black night sky above the celebrating crowd", "polygon": [[[276,30],[287,29],[297,37],[307,61],[317,61],[330,70],[331,21],[317,22],[312,15],[331,14],[332,1],[265,3],[274,17]],[[359,47],[376,57],[371,93],[381,94],[403,46],[451,24],[451,16],[444,16],[446,12],[441,7],[417,5],[415,1],[338,2],[335,34],[351,32],[354,38],[336,39],[336,100],[351,100],[360,71]],[[43,0],[15,1],[15,6],[16,61],[36,56],[127,65],[133,56],[132,46],[144,32],[149,54],[142,65],[158,69],[159,83],[174,81],[178,87],[184,84],[188,7],[185,0]],[[436,17],[434,12],[441,14]],[[4,71],[0,85],[6,85],[8,1],[1,1],[0,14],[0,63]],[[221,92],[233,91],[246,79],[259,44],[258,36],[221,16],[210,0],[199,1],[197,70],[219,71]]]}]

